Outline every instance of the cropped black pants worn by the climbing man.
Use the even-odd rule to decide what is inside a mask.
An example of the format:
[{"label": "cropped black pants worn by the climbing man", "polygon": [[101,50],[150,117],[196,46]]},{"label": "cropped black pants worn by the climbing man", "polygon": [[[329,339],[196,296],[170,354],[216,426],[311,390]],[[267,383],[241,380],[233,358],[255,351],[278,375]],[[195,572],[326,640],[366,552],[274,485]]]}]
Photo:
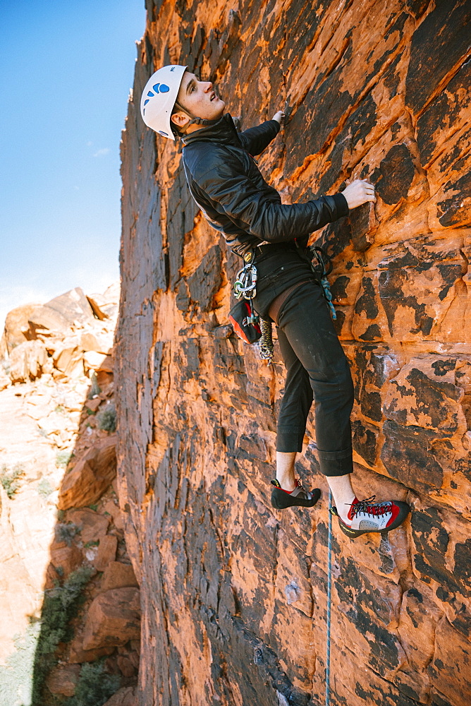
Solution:
[{"label": "cropped black pants worn by the climbing man", "polygon": [[[300,258],[296,263],[291,253],[288,263],[285,253],[270,260],[258,264],[259,282],[254,301],[255,309],[262,316],[267,315],[274,292],[276,296],[310,274],[306,263]],[[351,473],[353,383],[350,367],[322,289],[313,279],[295,289],[281,306],[277,333],[287,374],[276,450],[302,450],[307,415],[314,400],[316,445],[322,473],[326,476]]]}]

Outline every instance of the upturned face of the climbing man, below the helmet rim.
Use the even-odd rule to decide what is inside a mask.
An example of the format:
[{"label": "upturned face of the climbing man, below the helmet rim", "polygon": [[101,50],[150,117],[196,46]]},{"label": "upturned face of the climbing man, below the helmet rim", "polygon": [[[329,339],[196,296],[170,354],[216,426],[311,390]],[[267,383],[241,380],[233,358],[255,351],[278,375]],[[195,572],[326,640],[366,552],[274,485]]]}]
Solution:
[{"label": "upturned face of the climbing man, below the helmet rim", "polygon": [[[188,110],[190,114],[207,120],[220,118],[226,107],[224,100],[221,100],[214,92],[212,82],[200,81],[190,71],[185,71],[183,74],[176,102]],[[171,119],[180,130],[184,130],[185,124],[190,122],[190,117],[183,111],[174,113]],[[192,128],[197,130],[200,127],[200,125],[193,124],[190,125],[188,131],[192,132]]]}]

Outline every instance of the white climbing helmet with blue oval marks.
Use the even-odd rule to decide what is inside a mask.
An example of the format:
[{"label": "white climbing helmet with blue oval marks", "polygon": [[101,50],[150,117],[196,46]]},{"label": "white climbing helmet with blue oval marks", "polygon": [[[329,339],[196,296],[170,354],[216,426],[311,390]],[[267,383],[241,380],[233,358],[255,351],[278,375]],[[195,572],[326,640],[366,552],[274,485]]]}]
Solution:
[{"label": "white climbing helmet with blue oval marks", "polygon": [[142,91],[140,114],[147,127],[175,140],[170,116],[175,105],[186,66],[164,66],[152,74]]}]

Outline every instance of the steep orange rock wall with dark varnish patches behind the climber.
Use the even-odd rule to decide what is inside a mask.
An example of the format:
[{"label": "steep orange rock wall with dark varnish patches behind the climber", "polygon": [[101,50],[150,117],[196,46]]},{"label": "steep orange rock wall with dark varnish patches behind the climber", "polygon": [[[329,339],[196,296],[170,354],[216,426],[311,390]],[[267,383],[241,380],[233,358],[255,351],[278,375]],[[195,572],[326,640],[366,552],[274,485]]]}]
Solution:
[{"label": "steep orange rock wall with dark varnish patches behind the climber", "polygon": [[[142,591],[140,704],[324,702],[326,484],[272,510],[279,351],[226,327],[240,261],[192,202],[178,142],[140,119],[159,66],[216,82],[285,202],[369,178],[378,200],[312,242],[334,258],[355,381],[358,493],[411,503],[334,525],[331,702],[465,706],[471,681],[470,11],[467,0],[148,0],[123,133],[118,482]],[[315,440],[312,419],[308,433]]]}]

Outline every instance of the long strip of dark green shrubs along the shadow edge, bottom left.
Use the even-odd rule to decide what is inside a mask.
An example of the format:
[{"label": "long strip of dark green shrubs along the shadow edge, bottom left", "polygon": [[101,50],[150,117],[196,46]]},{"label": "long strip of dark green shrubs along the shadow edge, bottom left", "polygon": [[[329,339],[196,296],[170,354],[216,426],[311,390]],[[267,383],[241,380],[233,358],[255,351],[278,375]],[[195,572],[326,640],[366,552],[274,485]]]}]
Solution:
[{"label": "long strip of dark green shrubs along the shadow edge, bottom left", "polygon": [[[41,705],[44,681],[56,664],[55,652],[59,642],[68,642],[73,631],[68,623],[78,613],[83,602],[82,590],[94,575],[94,569],[80,566],[63,582],[44,593],[41,615],[41,633],[37,642],[33,671],[32,704]],[[80,702],[78,702],[80,703]]]}]

